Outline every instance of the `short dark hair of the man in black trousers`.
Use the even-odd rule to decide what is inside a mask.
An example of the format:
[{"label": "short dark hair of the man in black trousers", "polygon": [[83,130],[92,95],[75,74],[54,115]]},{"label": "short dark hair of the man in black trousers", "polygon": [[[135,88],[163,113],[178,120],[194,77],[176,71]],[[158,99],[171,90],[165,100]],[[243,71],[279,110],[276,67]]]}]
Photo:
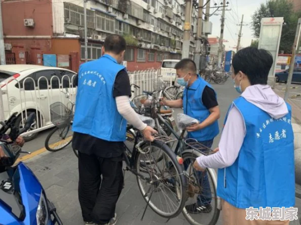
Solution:
[{"label": "short dark hair of the man in black trousers", "polygon": [[121,35],[109,34],[106,36],[103,46],[105,52],[120,54],[126,49],[126,41]]}]

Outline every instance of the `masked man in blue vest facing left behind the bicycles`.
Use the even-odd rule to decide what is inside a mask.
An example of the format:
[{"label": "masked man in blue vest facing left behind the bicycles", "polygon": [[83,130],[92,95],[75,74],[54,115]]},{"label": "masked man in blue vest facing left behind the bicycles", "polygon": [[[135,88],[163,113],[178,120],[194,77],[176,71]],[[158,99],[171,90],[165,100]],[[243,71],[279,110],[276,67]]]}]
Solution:
[{"label": "masked man in blue vest facing left behind the bicycles", "polygon": [[[162,104],[169,107],[184,109],[184,114],[197,119],[200,123],[186,128],[188,138],[194,138],[200,143],[211,147],[214,137],[219,133],[219,106],[216,93],[210,84],[197,74],[197,67],[193,60],[182,59],[175,65],[177,83],[184,86],[182,99],[168,101]],[[199,173],[202,192],[196,203],[186,206],[190,213],[208,213],[212,210],[211,189],[208,175]],[[202,178],[201,178],[202,177]]]}]

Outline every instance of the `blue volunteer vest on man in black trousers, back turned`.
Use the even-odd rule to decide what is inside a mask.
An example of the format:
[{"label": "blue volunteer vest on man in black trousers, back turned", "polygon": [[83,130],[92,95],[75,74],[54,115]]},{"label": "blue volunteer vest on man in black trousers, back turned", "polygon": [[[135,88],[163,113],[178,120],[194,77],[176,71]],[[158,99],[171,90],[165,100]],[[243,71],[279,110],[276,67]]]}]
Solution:
[{"label": "blue volunteer vest on man in black trousers, back turned", "polygon": [[73,131],[107,141],[126,140],[126,120],[117,110],[113,89],[125,69],[109,55],[80,66]]}]

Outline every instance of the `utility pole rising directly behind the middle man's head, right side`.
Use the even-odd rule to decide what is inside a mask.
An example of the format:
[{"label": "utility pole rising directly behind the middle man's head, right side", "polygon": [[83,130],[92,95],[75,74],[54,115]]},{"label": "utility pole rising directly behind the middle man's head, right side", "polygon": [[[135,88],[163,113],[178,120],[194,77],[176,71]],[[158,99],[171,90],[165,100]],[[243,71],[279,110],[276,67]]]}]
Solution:
[{"label": "utility pole rising directly behind the middle man's head, right side", "polygon": [[198,12],[198,24],[197,24],[197,42],[196,42],[196,52],[195,52],[195,63],[197,65],[197,71],[200,70],[200,59],[202,53],[202,31],[203,31],[203,0],[199,0],[199,12]]}]

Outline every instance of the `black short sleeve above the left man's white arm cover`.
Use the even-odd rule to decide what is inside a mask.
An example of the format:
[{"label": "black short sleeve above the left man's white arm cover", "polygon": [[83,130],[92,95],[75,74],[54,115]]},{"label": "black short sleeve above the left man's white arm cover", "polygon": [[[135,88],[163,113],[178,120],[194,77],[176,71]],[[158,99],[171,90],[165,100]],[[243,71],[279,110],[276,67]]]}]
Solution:
[{"label": "black short sleeve above the left man's white arm cover", "polygon": [[117,73],[115,83],[114,83],[114,90],[113,90],[113,97],[118,96],[131,96],[131,84],[130,78],[127,71],[124,69]]}]

